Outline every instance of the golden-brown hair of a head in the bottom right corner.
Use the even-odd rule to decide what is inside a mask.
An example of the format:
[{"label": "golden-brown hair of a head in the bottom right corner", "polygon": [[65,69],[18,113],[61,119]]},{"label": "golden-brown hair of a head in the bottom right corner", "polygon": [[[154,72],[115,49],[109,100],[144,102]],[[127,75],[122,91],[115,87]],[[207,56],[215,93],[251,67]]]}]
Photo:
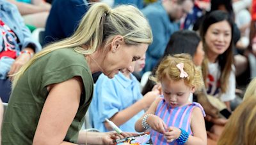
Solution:
[{"label": "golden-brown hair of a head in the bottom right corner", "polygon": [[256,98],[242,102],[228,119],[218,145],[256,144]]}]

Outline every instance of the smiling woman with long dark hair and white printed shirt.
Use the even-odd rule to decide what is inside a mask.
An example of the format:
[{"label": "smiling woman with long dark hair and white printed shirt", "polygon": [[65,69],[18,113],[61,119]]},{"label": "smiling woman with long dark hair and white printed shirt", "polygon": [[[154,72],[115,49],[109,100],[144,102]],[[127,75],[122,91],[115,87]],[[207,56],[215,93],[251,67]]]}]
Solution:
[{"label": "smiling woman with long dark hair and white printed shirt", "polygon": [[[207,93],[224,102],[230,111],[230,101],[236,97],[232,18],[225,11],[212,11],[202,24],[200,35],[205,51],[202,72]],[[211,132],[220,135],[225,123],[219,122]]]}]

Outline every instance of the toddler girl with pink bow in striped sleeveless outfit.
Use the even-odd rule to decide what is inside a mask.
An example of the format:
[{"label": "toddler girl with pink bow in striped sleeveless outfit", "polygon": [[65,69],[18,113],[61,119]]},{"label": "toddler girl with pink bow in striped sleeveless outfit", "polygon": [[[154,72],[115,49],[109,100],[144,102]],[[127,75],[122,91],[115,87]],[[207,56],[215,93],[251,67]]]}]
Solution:
[{"label": "toddler girl with pink bow in striped sleeveless outfit", "polygon": [[161,83],[163,97],[156,99],[136,122],[136,131],[151,127],[154,144],[207,144],[204,109],[189,102],[189,96],[204,85],[190,55],[165,57],[152,79]]}]

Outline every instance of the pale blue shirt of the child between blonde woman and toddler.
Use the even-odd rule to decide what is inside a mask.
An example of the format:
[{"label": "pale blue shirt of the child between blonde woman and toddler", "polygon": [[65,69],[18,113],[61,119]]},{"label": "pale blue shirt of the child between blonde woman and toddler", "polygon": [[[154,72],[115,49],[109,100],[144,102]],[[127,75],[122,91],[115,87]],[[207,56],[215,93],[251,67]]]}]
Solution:
[{"label": "pale blue shirt of the child between blonde woman and toddler", "polygon": [[[140,83],[132,74],[131,79],[126,78],[121,72],[116,74],[113,79],[100,74],[89,109],[93,127],[101,132],[108,132],[109,130],[104,125],[105,118],[111,118],[141,98]],[[124,132],[136,132],[135,123],[144,113],[144,111],[140,111],[120,125],[120,129]]]}]

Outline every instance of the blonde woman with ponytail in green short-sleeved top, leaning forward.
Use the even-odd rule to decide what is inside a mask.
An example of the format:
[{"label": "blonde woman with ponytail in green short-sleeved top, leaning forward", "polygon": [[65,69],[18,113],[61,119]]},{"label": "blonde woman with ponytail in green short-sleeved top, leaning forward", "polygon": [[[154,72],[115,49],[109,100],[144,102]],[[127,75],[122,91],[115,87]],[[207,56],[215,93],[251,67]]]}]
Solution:
[{"label": "blonde woman with ponytail in green short-sleeved top, leaning forward", "polygon": [[70,38],[45,47],[16,74],[2,143],[113,144],[130,135],[79,130],[92,100],[92,72],[113,78],[132,71],[151,42],[148,22],[134,6],[93,4]]}]

